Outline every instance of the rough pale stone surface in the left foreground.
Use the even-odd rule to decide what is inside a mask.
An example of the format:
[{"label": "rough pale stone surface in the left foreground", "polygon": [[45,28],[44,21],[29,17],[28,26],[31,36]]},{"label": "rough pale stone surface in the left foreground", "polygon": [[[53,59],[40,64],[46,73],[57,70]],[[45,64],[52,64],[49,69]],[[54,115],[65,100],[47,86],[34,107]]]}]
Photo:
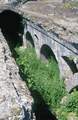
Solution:
[{"label": "rough pale stone surface in the left foreground", "polygon": [[0,31],[0,120],[33,120],[33,99]]}]

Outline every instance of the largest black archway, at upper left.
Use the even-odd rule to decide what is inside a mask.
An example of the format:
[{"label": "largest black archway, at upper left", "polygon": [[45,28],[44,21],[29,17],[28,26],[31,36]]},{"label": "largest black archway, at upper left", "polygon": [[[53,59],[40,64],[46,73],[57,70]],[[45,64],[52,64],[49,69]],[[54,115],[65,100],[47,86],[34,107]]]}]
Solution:
[{"label": "largest black archway, at upper left", "polygon": [[16,45],[22,45],[24,26],[21,15],[11,10],[4,10],[0,13],[0,28],[11,50]]}]

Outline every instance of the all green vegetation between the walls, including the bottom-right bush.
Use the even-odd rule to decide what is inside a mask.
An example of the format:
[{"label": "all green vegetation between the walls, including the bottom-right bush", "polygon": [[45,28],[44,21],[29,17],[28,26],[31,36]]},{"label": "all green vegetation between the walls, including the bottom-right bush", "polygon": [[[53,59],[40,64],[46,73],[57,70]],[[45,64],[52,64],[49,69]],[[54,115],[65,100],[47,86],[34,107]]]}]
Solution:
[{"label": "all green vegetation between the walls, including the bottom-right bush", "polygon": [[16,48],[16,53],[16,62],[23,80],[31,92],[36,91],[34,92],[36,104],[41,105],[41,99],[37,94],[39,93],[58,120],[68,120],[67,117],[71,113],[72,118],[78,116],[78,91],[71,94],[65,91],[56,61],[51,58],[45,64],[37,58],[33,48]]}]

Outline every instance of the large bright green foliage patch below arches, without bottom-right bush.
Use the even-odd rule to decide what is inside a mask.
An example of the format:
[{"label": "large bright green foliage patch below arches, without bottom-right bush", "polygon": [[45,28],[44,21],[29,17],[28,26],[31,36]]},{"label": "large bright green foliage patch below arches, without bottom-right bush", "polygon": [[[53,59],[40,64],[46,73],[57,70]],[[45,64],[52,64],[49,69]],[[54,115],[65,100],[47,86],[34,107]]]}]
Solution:
[{"label": "large bright green foliage patch below arches, without bottom-right bush", "polygon": [[65,94],[63,80],[59,78],[59,69],[53,58],[46,64],[37,59],[33,48],[19,48],[16,59],[22,77],[31,90],[36,90],[49,107],[56,108]]}]

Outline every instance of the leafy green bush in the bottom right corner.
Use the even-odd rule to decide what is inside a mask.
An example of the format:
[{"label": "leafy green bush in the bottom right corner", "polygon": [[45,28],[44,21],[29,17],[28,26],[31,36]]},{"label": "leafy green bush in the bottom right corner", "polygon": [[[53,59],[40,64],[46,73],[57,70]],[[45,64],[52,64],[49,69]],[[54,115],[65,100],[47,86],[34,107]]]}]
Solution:
[{"label": "leafy green bush in the bottom right corner", "polygon": [[74,91],[66,96],[66,102],[57,109],[59,120],[67,120],[69,113],[78,116],[78,91]]}]

